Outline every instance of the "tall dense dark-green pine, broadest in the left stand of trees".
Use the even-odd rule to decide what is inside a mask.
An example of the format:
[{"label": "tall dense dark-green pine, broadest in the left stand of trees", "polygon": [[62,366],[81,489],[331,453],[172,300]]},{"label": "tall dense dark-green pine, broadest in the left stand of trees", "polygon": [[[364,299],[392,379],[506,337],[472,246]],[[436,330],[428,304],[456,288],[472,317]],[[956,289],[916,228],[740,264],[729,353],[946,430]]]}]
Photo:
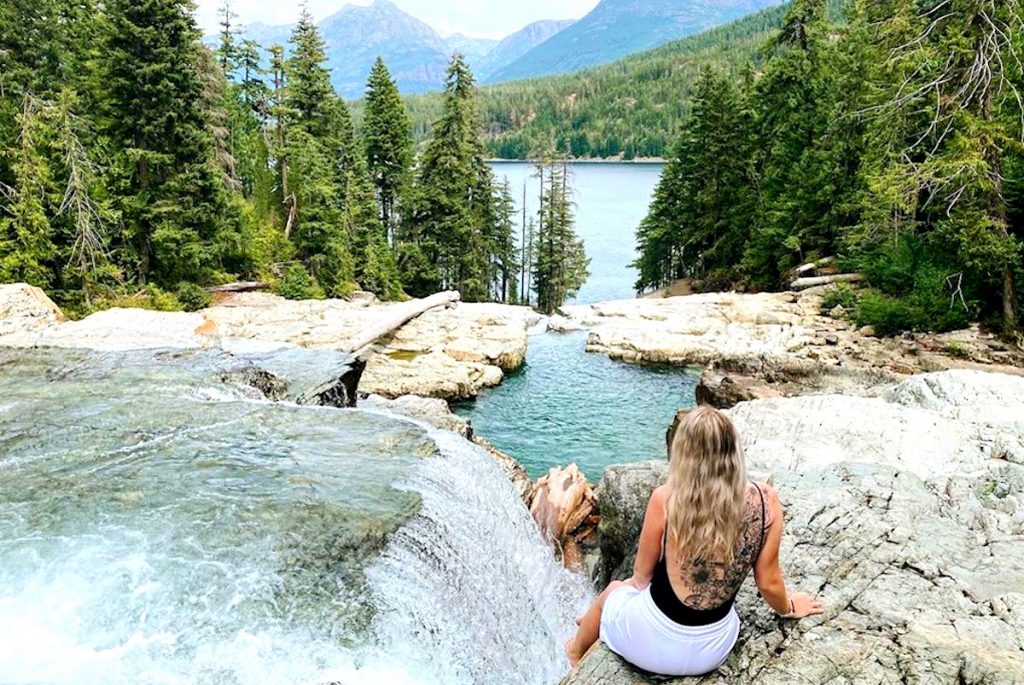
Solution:
[{"label": "tall dense dark-green pine, broadest in the left stand of trees", "polygon": [[202,111],[200,34],[190,3],[112,0],[108,134],[123,152],[118,200],[137,279],[202,282],[219,267],[211,246],[224,188]]}]

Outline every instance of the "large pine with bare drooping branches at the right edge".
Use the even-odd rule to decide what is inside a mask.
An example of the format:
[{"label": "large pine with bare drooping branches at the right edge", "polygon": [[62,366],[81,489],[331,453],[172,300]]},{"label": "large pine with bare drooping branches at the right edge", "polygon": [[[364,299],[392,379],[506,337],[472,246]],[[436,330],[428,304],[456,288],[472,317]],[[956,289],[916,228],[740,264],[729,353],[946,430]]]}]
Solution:
[{"label": "large pine with bare drooping branches at the right edge", "polygon": [[[981,292],[999,293],[1004,325],[1015,330],[1021,243],[1009,224],[1004,165],[1021,140],[1024,104],[1011,66],[1019,65],[1014,41],[1024,9],[1019,0],[969,0],[948,12],[906,3],[891,9],[882,25],[893,55],[889,94],[879,112],[905,122],[899,133],[907,135],[899,157],[876,170],[874,186],[898,188],[897,209],[919,232],[925,227],[933,246],[953,249],[947,268],[963,269]],[[892,80],[904,75],[896,86]],[[892,131],[891,123],[877,127]]]}]

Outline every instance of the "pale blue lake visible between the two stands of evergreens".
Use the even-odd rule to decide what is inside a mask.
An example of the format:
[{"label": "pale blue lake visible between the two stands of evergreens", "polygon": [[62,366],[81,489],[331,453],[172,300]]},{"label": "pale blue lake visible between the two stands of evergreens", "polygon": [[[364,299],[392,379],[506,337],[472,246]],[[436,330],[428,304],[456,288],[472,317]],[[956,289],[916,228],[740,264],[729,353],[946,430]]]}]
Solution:
[{"label": "pale blue lake visible between the two stands of evergreens", "polygon": [[[575,302],[589,304],[621,300],[635,295],[636,229],[647,214],[660,164],[570,164],[569,182],[577,210],[577,232],[590,257],[590,279]],[[526,211],[536,216],[540,180],[536,168],[522,162],[492,164],[498,180],[507,178],[522,212],[523,183]],[[521,219],[520,219],[521,220]]]}]

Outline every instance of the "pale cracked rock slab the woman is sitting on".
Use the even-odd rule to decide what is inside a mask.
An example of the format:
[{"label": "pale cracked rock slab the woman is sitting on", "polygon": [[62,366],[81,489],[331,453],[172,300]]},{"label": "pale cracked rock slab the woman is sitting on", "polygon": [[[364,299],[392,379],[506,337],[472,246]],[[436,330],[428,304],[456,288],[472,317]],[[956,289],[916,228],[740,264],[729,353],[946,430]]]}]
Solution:
[{"label": "pale cracked rock slab the woman is sitting on", "polygon": [[[816,395],[729,412],[752,475],[785,509],[782,562],[825,614],[775,617],[752,582],[716,673],[667,681],[603,647],[562,685],[1024,683],[1024,379],[953,371],[877,397]],[[598,489],[605,577],[629,573],[651,462]]]}]

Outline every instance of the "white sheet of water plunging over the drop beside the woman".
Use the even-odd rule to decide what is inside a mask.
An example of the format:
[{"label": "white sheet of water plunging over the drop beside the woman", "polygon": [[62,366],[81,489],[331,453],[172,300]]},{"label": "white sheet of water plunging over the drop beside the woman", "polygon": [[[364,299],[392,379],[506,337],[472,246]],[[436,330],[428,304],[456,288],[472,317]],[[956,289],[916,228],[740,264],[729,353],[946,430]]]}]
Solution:
[{"label": "white sheet of water plunging over the drop beside the woman", "polygon": [[557,563],[508,479],[479,446],[430,429],[441,455],[403,485],[420,514],[367,571],[387,653],[428,682],[556,683],[562,643],[592,598]]}]

